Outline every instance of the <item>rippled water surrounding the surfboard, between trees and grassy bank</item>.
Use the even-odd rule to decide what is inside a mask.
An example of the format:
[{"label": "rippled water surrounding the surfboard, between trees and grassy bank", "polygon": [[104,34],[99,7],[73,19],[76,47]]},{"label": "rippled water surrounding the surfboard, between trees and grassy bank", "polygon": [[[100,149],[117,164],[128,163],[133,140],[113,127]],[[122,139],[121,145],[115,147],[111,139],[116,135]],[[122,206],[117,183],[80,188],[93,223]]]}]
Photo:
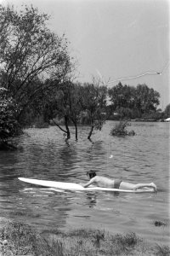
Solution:
[{"label": "rippled water surrounding the surfboard, between trees and grassy bank", "polygon": [[[27,129],[17,138],[22,149],[0,152],[0,218],[31,224],[37,229],[94,228],[112,234],[136,232],[150,242],[169,242],[169,123],[131,123],[134,137],[111,137],[108,121],[87,139],[79,128],[76,142],[65,143],[57,127]],[[71,132],[74,129],[71,128]],[[55,192],[22,183],[31,177],[86,183],[94,169],[105,177],[157,185],[156,194]],[[167,225],[155,226],[155,221]]]}]

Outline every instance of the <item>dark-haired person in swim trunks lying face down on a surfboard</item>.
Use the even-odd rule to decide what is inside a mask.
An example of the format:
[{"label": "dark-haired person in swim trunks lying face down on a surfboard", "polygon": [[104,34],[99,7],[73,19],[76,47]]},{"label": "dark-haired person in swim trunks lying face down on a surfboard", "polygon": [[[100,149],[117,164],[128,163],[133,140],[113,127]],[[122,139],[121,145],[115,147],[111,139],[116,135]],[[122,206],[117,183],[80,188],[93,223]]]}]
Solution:
[{"label": "dark-haired person in swim trunks lying face down on a surfboard", "polygon": [[93,170],[88,171],[87,176],[89,177],[90,181],[82,185],[84,188],[88,188],[89,185],[94,183],[96,186],[102,187],[102,188],[127,189],[127,190],[153,188],[156,192],[155,183],[138,183],[138,184],[125,183],[121,179],[111,179],[108,177],[97,176]]}]

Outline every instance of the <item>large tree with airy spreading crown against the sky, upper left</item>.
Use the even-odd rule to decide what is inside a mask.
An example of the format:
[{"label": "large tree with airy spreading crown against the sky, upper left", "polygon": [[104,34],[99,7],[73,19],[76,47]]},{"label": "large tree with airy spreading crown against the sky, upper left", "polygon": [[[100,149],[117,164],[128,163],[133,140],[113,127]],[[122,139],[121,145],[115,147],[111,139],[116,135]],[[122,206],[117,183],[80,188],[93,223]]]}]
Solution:
[{"label": "large tree with airy spreading crown against the sky, upper left", "polygon": [[17,12],[0,5],[1,83],[20,102],[21,113],[47,89],[38,79],[55,79],[59,84],[71,73],[65,35],[50,32],[48,20],[48,15],[32,6]]}]

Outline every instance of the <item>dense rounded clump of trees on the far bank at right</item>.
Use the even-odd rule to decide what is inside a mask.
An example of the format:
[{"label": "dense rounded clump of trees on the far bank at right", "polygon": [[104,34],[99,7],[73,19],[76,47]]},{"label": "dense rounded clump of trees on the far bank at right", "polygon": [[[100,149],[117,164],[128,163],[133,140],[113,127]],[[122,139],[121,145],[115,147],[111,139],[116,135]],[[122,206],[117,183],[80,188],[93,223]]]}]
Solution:
[{"label": "dense rounded clump of trees on the far bank at right", "polygon": [[137,87],[122,85],[113,86],[108,90],[111,104],[120,113],[121,117],[130,119],[141,118],[143,114],[156,112],[160,94],[150,89],[146,84]]}]

